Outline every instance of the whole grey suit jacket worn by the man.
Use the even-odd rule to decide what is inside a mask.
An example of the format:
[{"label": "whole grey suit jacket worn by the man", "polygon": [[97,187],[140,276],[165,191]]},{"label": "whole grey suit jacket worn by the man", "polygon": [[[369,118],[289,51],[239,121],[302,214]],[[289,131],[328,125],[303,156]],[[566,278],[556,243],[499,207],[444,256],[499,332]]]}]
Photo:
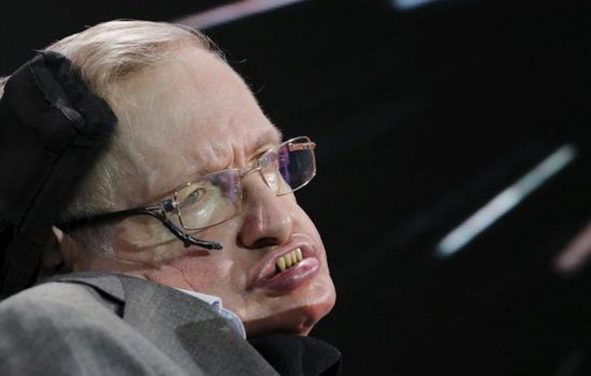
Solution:
[{"label": "whole grey suit jacket worn by the man", "polygon": [[208,304],[139,278],[55,278],[0,303],[0,375],[277,375]]}]

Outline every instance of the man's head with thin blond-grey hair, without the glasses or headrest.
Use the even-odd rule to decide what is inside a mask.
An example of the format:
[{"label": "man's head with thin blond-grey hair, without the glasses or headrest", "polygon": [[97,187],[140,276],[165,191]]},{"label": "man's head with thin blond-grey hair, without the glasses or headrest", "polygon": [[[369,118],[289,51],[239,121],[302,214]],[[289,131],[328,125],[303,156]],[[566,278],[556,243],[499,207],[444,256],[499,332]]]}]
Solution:
[{"label": "man's head with thin blond-grey hair, without the glasses or headrest", "polygon": [[[50,49],[80,68],[119,119],[113,146],[67,216],[157,205],[208,173],[252,169],[282,142],[244,81],[195,33],[117,21]],[[250,336],[307,334],[335,300],[320,236],[293,193],[276,195],[258,171],[241,180],[241,210],[197,234],[222,251],[185,247],[158,220],[133,216],[65,236],[66,261],[76,271],[125,272],[217,295]],[[278,258],[298,249],[304,260],[276,275]]]}]

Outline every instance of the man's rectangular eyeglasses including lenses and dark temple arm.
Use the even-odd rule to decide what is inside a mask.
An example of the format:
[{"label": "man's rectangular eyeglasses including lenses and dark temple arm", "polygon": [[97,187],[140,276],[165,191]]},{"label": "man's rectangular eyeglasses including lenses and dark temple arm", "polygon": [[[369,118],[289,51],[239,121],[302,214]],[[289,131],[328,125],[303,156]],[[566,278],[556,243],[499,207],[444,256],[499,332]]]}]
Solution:
[{"label": "man's rectangular eyeglasses including lenses and dark temple arm", "polygon": [[236,168],[212,172],[178,186],[172,197],[155,206],[76,218],[57,227],[67,232],[97,222],[149,215],[158,219],[185,247],[197,245],[206,249],[223,249],[220,243],[195,238],[187,231],[197,232],[219,225],[240,213],[242,181],[251,174],[258,173],[276,196],[304,187],[316,175],[315,147],[316,144],[308,137],[295,137],[263,153],[254,167],[244,172]]}]

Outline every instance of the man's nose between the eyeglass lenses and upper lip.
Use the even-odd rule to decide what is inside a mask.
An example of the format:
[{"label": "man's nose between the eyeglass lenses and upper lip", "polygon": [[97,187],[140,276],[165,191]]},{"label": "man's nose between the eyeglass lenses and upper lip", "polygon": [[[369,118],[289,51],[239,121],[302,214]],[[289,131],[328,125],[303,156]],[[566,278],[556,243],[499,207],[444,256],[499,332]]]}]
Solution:
[{"label": "man's nose between the eyeglass lenses and upper lip", "polygon": [[243,222],[238,240],[250,249],[283,244],[293,230],[293,194],[277,197],[260,174],[252,175],[243,185]]}]

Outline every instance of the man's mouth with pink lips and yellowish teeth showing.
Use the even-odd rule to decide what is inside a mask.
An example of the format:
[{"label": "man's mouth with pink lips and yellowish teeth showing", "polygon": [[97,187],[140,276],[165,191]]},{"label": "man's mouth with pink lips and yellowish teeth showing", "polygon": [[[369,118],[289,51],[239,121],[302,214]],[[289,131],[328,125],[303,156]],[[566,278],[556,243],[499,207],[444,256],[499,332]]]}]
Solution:
[{"label": "man's mouth with pink lips and yellowish teeth showing", "polygon": [[251,287],[270,295],[283,295],[305,285],[319,270],[315,249],[301,245],[266,259]]}]

